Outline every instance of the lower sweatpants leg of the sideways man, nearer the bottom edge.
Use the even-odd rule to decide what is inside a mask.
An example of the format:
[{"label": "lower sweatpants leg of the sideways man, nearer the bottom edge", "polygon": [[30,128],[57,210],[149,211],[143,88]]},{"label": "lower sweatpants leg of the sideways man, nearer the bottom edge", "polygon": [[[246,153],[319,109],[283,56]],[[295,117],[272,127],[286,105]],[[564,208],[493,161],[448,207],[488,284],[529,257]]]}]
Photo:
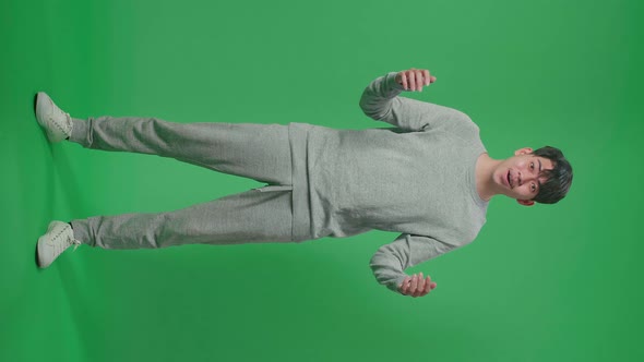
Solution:
[{"label": "lower sweatpants leg of the sideways man, nearer the bottom edge", "polygon": [[71,224],[74,239],[104,249],[302,241],[293,238],[290,190],[271,186],[170,213],[96,216]]}]

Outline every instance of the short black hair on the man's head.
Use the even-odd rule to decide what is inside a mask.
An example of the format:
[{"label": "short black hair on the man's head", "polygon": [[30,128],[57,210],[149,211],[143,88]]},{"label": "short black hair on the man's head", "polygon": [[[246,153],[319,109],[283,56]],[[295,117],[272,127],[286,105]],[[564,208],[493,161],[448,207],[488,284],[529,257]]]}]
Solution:
[{"label": "short black hair on the man's head", "polygon": [[539,193],[533,201],[540,204],[554,204],[565,197],[572,184],[572,166],[563,157],[563,153],[556,147],[545,146],[535,149],[533,155],[545,157],[552,161],[551,170],[544,170],[547,181],[539,188]]}]

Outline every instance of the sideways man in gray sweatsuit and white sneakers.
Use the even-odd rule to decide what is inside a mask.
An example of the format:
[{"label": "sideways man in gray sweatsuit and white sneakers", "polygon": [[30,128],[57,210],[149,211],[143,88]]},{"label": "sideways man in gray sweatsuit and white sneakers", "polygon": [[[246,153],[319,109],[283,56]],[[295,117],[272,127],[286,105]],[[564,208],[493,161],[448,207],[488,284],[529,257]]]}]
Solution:
[{"label": "sideways man in gray sweatsuit and white sneakers", "polygon": [[172,123],[145,118],[71,118],[44,93],[36,117],[51,142],[155,154],[266,186],[181,210],[52,221],[37,244],[47,267],[72,244],[104,249],[207,243],[300,242],[372,229],[401,232],[370,266],[378,281],[405,295],[436,288],[404,270],[472,242],[494,195],[556,203],[572,168],[553,147],[522,148],[497,160],[463,112],[398,97],[436,82],[427,70],[381,76],[360,107],[396,128],[334,130],[306,123]]}]

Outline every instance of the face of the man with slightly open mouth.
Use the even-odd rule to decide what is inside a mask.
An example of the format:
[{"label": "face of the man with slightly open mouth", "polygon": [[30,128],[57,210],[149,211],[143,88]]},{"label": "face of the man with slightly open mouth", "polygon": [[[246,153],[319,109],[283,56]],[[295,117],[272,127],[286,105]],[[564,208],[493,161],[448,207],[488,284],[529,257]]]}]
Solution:
[{"label": "face of the man with slightly open mouth", "polygon": [[546,182],[546,177],[539,176],[544,170],[551,170],[552,161],[545,157],[530,155],[532,148],[521,148],[501,162],[494,170],[494,183],[501,193],[516,198],[525,206],[534,205],[533,200],[539,193],[540,184]]}]

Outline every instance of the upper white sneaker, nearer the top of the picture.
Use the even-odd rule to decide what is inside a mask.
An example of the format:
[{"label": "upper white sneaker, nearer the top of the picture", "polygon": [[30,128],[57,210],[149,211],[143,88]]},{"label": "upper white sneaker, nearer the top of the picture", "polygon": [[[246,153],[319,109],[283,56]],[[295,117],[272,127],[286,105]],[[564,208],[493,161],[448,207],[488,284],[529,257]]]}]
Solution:
[{"label": "upper white sneaker, nearer the top of the picture", "polygon": [[50,142],[59,142],[72,135],[72,119],[56,106],[45,92],[36,96],[36,119],[47,132]]}]

